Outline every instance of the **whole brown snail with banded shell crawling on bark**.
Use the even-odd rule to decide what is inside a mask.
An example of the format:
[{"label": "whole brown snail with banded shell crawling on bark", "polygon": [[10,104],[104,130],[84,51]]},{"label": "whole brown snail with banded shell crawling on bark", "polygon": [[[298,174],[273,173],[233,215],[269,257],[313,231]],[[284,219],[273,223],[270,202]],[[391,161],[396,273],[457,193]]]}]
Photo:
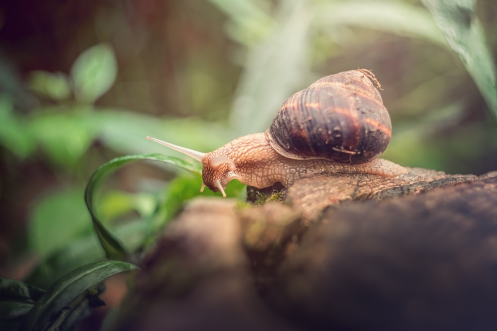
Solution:
[{"label": "whole brown snail with banded shell crawling on bark", "polygon": [[392,125],[366,69],[323,77],[289,97],[265,132],[237,138],[210,153],[161,143],[202,162],[207,186],[226,197],[231,180],[256,188],[280,182],[288,188],[316,174],[375,174],[396,177],[406,169],[377,158],[388,145]]}]

